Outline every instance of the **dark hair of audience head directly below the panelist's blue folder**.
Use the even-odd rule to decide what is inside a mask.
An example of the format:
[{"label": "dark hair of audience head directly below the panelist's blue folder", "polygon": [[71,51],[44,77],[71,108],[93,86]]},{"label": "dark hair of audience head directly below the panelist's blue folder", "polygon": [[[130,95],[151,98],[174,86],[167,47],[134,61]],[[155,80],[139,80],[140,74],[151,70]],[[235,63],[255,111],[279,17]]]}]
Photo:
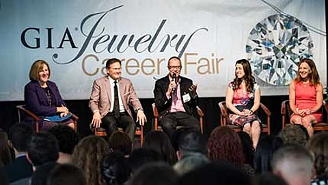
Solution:
[{"label": "dark hair of audience head directly below the panelist's blue folder", "polygon": [[49,132],[57,138],[59,151],[63,153],[72,154],[75,145],[79,143],[79,135],[67,125],[56,125]]}]

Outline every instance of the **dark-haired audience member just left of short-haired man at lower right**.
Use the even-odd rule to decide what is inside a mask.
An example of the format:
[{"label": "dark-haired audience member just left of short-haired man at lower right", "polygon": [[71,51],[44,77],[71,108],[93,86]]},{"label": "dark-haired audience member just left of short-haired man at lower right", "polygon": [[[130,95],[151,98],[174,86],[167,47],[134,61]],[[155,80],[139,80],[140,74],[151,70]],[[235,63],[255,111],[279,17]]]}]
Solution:
[{"label": "dark-haired audience member just left of short-haired man at lower right", "polygon": [[271,172],[271,160],[273,153],[282,147],[281,138],[273,135],[262,136],[254,156],[254,169],[256,173]]}]

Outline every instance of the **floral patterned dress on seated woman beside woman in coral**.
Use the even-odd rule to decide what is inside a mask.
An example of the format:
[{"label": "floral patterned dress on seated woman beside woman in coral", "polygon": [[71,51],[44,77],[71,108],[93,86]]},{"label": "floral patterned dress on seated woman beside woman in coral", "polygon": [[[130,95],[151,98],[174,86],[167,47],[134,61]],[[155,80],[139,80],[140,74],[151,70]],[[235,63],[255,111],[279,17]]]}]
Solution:
[{"label": "floral patterned dress on seated woman beside woman in coral", "polygon": [[[232,85],[233,82],[230,82],[228,88],[233,89]],[[254,88],[253,90],[251,90],[251,93],[245,92],[243,88],[238,88],[234,90],[232,104],[240,111],[243,111],[244,109],[251,110],[251,107],[254,105],[254,95],[258,88],[260,88],[260,86],[258,86],[258,84],[254,84]],[[244,127],[245,124],[251,124],[254,121],[258,121],[259,123],[261,123],[260,119],[258,118],[258,116],[256,116],[256,114],[251,114],[248,116],[237,115],[233,112],[230,112],[229,114],[229,123],[232,125]]]}]

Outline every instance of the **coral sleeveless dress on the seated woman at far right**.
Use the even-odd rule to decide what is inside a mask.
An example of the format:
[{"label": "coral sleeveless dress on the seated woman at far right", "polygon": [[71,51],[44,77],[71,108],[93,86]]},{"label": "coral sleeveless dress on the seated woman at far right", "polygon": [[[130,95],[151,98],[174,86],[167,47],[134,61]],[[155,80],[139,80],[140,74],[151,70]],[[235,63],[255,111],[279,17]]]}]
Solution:
[{"label": "coral sleeveless dress on the seated woman at far right", "polygon": [[[311,109],[316,106],[316,86],[310,84],[297,83],[294,81],[295,85],[295,106],[296,108]],[[316,123],[323,120],[323,114],[318,110],[312,113],[316,119]]]}]

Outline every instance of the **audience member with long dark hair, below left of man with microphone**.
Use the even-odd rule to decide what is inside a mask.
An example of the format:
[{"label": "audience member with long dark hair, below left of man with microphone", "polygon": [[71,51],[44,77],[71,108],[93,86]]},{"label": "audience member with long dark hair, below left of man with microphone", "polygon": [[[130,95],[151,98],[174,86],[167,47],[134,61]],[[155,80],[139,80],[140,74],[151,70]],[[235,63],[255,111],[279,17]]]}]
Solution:
[{"label": "audience member with long dark hair, below left of man with microphone", "polygon": [[148,132],[143,139],[143,147],[154,149],[159,153],[160,158],[170,165],[176,163],[176,153],[174,153],[169,137],[164,132]]}]

